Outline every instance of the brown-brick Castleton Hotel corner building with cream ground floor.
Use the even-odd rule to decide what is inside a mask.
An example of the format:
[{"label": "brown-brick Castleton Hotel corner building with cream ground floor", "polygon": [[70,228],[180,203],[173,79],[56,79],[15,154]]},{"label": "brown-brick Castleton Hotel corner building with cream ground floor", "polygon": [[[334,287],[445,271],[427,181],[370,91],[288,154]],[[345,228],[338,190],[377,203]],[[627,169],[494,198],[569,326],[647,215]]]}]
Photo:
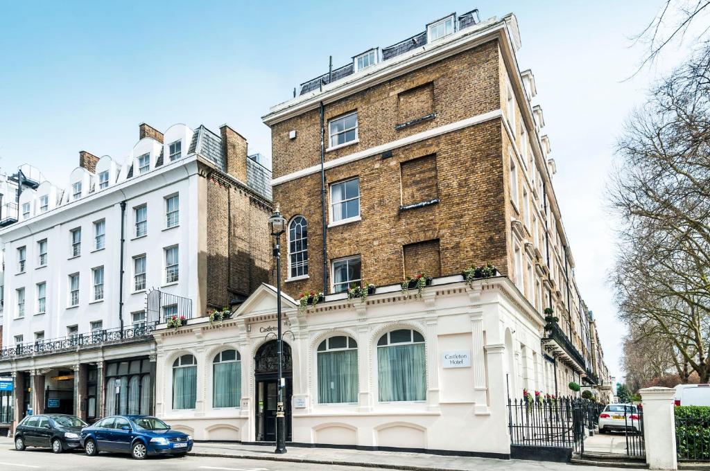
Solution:
[{"label": "brown-brick Castleton Hotel corner building with cream ground floor", "polygon": [[[263,117],[288,220],[284,293],[263,284],[227,320],[158,326],[158,414],[196,439],[273,441],[278,304],[293,443],[505,458],[508,397],[596,387],[593,323],[519,47],[515,16],[454,13]],[[467,283],[461,273],[486,262],[498,275]],[[431,283],[403,292],[418,274]],[[302,309],[304,292],[324,301]],[[549,331],[547,307],[559,317]]]}]

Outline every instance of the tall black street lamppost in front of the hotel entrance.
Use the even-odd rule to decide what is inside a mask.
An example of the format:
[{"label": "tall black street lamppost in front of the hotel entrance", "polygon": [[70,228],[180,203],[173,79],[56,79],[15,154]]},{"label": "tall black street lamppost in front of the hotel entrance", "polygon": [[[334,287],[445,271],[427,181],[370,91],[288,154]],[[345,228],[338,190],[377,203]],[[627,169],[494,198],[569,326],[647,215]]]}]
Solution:
[{"label": "tall black street lamppost in front of the hotel entrance", "polygon": [[271,225],[271,235],[273,235],[273,256],[276,259],[276,317],[278,319],[278,337],[276,345],[278,348],[278,402],[276,403],[276,449],[274,453],[286,453],[286,428],[285,416],[283,415],[283,388],[286,386],[283,380],[283,335],[281,333],[281,234],[285,232],[286,220],[276,210],[268,219]]}]

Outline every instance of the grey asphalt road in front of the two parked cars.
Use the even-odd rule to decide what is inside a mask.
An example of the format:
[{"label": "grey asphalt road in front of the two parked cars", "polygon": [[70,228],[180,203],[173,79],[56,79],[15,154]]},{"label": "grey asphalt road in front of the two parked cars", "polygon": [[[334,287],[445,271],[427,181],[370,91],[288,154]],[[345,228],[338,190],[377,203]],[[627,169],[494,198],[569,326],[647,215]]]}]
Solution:
[{"label": "grey asphalt road in front of the two parked cars", "polygon": [[186,456],[183,458],[150,457],[133,460],[129,455],[100,453],[98,456],[84,455],[83,451],[72,451],[55,455],[48,449],[27,448],[16,451],[5,440],[0,443],[0,470],[2,471],[372,471],[371,467],[312,465],[295,462],[275,462],[266,460],[241,460],[236,458],[207,458]]}]

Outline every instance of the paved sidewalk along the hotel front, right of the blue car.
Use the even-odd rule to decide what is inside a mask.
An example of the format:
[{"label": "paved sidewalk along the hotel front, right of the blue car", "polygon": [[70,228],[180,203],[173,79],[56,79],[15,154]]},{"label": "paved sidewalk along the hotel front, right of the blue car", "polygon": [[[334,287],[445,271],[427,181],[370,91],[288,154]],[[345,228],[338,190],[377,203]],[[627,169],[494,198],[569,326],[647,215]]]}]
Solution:
[{"label": "paved sidewalk along the hotel front, right of the blue car", "polygon": [[[566,463],[468,458],[395,451],[363,451],[340,448],[289,447],[275,455],[273,446],[239,443],[195,443],[190,455],[250,460],[304,462],[321,465],[361,466],[415,471],[569,471]],[[578,467],[577,469],[585,469]],[[590,468],[591,469],[591,468]],[[609,470],[621,468],[608,468]]]}]

